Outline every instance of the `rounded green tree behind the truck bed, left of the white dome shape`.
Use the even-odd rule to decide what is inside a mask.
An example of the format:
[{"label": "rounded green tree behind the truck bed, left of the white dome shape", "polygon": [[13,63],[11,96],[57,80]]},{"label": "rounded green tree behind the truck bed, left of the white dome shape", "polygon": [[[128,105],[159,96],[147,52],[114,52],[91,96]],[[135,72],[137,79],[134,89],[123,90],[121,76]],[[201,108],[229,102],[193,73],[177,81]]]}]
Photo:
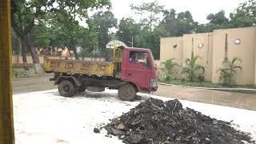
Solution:
[{"label": "rounded green tree behind the truck bed, left of the white dome shape", "polygon": [[97,32],[99,48],[105,48],[106,43],[111,40],[110,29],[117,26],[117,18],[114,18],[114,14],[110,10],[107,10],[94,14],[91,21],[94,22]]}]

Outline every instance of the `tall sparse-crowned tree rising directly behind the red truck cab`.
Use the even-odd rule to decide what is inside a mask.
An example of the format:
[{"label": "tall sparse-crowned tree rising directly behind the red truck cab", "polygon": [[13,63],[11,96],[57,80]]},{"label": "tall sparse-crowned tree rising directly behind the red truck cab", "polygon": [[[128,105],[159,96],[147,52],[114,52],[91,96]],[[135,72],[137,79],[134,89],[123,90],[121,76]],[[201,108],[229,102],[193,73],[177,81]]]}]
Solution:
[{"label": "tall sparse-crowned tree rising directly behind the red truck cab", "polygon": [[158,2],[142,3],[141,6],[130,5],[135,14],[142,15],[138,26],[141,31],[134,36],[139,47],[149,48],[154,58],[158,59],[160,54],[160,38],[166,36],[166,32],[162,26],[159,26],[160,18],[164,12],[164,6],[160,6]]}]

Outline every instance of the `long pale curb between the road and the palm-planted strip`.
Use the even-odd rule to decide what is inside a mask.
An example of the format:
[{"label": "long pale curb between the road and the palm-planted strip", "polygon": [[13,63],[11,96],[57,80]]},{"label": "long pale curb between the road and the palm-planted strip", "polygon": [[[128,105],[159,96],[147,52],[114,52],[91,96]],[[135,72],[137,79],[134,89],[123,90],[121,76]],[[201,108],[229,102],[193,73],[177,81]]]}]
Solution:
[{"label": "long pale curb between the road and the palm-planted strip", "polygon": [[203,89],[203,90],[222,90],[222,91],[233,91],[233,92],[245,92],[256,94],[256,89],[246,89],[246,88],[213,88],[213,87],[197,87],[197,86],[182,86],[182,85],[173,85],[169,83],[158,82],[159,85],[164,86],[179,86],[179,87],[187,87],[187,88],[194,88],[194,89]]}]

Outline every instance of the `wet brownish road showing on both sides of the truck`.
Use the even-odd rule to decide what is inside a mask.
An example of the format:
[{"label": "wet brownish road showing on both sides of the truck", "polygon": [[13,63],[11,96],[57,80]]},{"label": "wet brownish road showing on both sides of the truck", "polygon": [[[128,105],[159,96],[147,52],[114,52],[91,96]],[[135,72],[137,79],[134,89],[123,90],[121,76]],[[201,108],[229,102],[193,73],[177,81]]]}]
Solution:
[{"label": "wet brownish road showing on both sides of the truck", "polygon": [[[52,75],[47,74],[40,77],[14,78],[14,94],[56,89],[57,86],[54,86],[53,82],[49,82],[49,78],[52,78]],[[167,98],[178,98],[194,102],[256,110],[256,94],[242,94],[228,91],[201,90],[162,85],[158,87],[158,91],[155,94]]]}]

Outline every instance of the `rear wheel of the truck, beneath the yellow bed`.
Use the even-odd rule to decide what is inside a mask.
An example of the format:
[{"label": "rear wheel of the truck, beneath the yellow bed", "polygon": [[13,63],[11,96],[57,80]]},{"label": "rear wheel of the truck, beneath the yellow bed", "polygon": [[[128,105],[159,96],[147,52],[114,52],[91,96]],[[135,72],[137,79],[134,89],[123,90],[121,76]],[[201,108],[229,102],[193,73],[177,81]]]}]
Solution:
[{"label": "rear wheel of the truck, beneath the yellow bed", "polygon": [[63,80],[58,84],[58,93],[63,97],[72,97],[75,93],[75,86],[69,80]]}]

